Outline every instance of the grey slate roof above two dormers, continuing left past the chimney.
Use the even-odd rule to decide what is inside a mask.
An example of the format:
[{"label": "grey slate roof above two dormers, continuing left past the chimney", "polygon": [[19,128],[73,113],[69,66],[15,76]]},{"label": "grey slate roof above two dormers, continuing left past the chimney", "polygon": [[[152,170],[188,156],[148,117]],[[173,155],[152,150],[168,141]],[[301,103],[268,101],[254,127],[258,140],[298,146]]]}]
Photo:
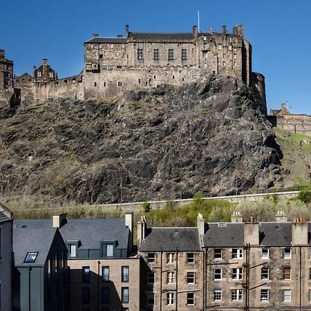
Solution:
[{"label": "grey slate roof above two dormers, continuing left past the chimney", "polygon": [[[17,228],[26,225],[27,228],[52,228],[51,219],[18,219],[14,220]],[[129,228],[125,227],[122,218],[100,219],[70,219],[59,228],[59,232],[66,241],[81,241],[79,249],[99,249],[101,241],[117,241],[117,249],[127,249],[129,242]]]}]

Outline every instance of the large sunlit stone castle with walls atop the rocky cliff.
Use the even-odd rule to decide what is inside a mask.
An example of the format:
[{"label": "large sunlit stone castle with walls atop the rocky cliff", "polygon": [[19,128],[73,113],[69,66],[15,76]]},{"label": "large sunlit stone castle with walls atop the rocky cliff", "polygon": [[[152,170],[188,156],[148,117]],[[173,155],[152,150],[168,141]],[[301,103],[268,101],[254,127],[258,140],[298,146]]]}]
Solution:
[{"label": "large sunlit stone castle with walls atop the rocky cliff", "polygon": [[[222,32],[147,33],[99,37],[84,42],[84,69],[79,75],[58,79],[47,59],[33,76],[15,76],[22,99],[100,99],[158,84],[197,82],[207,75],[229,75],[252,87],[261,111],[267,114],[265,78],[252,72],[252,45],[243,25]],[[1,84],[0,84],[1,85]]]}]

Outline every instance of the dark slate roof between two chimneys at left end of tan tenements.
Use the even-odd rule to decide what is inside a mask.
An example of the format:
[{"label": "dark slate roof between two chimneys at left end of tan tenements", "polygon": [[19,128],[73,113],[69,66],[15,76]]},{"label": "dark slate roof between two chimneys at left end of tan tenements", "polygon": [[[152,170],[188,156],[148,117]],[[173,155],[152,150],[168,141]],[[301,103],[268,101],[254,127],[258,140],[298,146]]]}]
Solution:
[{"label": "dark slate roof between two chimneys at left end of tan tenements", "polygon": [[176,228],[148,228],[147,236],[142,240],[140,251],[156,252],[168,251],[200,251],[200,241],[198,228],[196,227],[176,227]]}]

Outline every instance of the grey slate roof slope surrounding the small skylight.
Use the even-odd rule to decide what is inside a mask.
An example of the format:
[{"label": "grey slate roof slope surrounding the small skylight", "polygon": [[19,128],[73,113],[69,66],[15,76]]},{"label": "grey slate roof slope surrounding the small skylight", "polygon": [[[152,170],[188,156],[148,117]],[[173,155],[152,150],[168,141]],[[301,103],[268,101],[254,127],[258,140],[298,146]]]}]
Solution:
[{"label": "grey slate roof slope surrounding the small skylight", "polygon": [[[13,252],[15,266],[44,265],[57,228],[13,229]],[[24,263],[28,252],[38,252],[35,263]]]}]

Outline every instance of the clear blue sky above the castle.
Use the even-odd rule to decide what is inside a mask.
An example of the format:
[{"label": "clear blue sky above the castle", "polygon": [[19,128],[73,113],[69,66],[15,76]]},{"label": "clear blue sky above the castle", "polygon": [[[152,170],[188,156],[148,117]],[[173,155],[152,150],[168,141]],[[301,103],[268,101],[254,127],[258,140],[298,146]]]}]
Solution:
[{"label": "clear blue sky above the castle", "polygon": [[244,24],[253,46],[253,71],[266,79],[268,109],[288,102],[292,113],[311,115],[310,0],[15,0],[1,3],[0,48],[15,74],[32,73],[42,57],[66,77],[83,68],[83,42],[93,33],[190,32]]}]

